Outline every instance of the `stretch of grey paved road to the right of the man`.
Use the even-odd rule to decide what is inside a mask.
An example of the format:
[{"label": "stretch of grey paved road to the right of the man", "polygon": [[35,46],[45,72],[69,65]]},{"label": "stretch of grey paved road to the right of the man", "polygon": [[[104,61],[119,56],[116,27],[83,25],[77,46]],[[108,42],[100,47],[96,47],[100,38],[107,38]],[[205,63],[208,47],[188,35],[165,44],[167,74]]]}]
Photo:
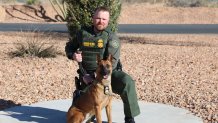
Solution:
[{"label": "stretch of grey paved road to the right of the man", "polygon": [[120,25],[121,33],[218,34],[218,24],[133,24]]}]

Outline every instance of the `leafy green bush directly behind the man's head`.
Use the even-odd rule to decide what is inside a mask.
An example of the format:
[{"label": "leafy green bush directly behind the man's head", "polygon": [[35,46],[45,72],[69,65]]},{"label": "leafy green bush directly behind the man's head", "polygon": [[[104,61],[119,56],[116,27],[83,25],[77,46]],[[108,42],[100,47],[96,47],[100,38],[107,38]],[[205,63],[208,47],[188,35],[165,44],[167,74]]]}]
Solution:
[{"label": "leafy green bush directly behind the man's head", "polygon": [[72,40],[81,27],[92,25],[93,12],[99,6],[107,6],[110,9],[110,26],[112,31],[117,31],[117,19],[121,11],[120,0],[65,0],[65,2],[67,27]]}]

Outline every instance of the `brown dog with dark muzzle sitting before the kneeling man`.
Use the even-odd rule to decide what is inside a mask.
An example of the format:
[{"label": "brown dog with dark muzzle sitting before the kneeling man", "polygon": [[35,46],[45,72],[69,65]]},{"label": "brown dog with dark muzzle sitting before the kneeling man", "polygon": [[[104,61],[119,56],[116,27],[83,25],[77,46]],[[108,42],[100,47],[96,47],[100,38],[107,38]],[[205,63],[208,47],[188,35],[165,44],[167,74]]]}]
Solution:
[{"label": "brown dog with dark muzzle sitting before the kneeling man", "polygon": [[111,73],[112,56],[107,60],[101,60],[97,56],[98,67],[96,70],[96,79],[89,86],[87,91],[82,94],[67,112],[67,123],[91,122],[90,118],[95,115],[97,123],[102,123],[101,110],[105,107],[108,123],[111,119]]}]

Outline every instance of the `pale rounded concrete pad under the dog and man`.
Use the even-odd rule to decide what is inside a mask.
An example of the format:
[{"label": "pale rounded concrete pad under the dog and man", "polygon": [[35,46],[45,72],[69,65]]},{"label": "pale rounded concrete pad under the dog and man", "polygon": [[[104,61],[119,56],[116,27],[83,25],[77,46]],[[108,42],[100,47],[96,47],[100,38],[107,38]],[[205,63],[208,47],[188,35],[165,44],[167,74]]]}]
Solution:
[{"label": "pale rounded concrete pad under the dog and man", "polygon": [[[66,123],[66,112],[72,100],[53,100],[32,105],[23,105],[0,111],[0,123]],[[202,119],[189,111],[170,105],[139,101],[141,114],[136,123],[203,123]],[[103,123],[107,123],[105,110]],[[113,123],[123,123],[123,104],[120,100],[112,103]]]}]

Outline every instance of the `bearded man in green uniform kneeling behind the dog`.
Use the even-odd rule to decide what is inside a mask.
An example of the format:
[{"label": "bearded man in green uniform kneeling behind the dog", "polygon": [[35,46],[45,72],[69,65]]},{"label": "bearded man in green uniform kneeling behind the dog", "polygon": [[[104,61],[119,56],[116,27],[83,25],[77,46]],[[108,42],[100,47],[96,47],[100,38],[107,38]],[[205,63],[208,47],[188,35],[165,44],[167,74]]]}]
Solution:
[{"label": "bearded man in green uniform kneeling behind the dog", "polygon": [[109,18],[108,8],[97,8],[92,18],[93,26],[82,28],[77,34],[77,40],[67,42],[65,51],[69,59],[81,63],[86,71],[85,76],[82,77],[83,84],[90,83],[92,81],[90,78],[94,78],[97,67],[96,55],[100,54],[101,58],[106,58],[108,54],[112,54],[112,91],[119,94],[124,103],[125,123],[135,123],[134,117],[140,114],[135,82],[128,74],[118,69],[120,40],[110,31]]}]

